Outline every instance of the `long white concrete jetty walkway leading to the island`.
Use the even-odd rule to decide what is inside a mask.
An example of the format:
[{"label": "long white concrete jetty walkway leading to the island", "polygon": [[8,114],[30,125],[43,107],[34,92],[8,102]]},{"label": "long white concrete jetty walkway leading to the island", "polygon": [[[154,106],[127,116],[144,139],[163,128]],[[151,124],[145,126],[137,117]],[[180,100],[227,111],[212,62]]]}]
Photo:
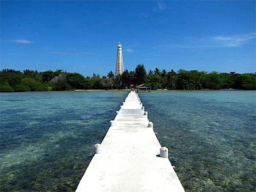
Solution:
[{"label": "long white concrete jetty walkway leading to the island", "polygon": [[76,191],[184,191],[169,159],[159,156],[138,94],[130,92],[116,113]]}]

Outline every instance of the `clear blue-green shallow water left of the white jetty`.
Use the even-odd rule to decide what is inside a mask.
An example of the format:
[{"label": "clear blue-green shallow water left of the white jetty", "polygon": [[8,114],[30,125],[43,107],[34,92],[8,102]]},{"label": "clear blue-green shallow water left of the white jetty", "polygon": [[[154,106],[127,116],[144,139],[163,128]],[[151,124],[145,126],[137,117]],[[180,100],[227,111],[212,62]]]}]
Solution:
[{"label": "clear blue-green shallow water left of the white jetty", "polygon": [[74,191],[126,94],[1,94],[1,191]]}]

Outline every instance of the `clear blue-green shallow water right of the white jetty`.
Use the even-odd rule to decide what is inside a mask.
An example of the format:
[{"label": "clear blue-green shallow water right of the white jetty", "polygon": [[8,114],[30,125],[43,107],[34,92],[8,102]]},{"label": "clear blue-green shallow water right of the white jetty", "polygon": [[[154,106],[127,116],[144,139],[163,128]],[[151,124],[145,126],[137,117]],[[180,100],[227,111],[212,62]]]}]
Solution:
[{"label": "clear blue-green shallow water right of the white jetty", "polygon": [[140,93],[186,191],[255,191],[256,92]]}]

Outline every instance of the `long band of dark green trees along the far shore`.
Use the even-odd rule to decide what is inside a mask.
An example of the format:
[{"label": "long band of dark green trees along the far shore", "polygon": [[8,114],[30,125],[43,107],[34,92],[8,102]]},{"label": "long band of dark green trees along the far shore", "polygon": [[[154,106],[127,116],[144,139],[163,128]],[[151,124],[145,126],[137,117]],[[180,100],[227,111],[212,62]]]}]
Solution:
[{"label": "long band of dark green trees along the far shore", "polygon": [[0,92],[40,92],[62,90],[113,90],[130,88],[131,84],[147,84],[152,90],[202,90],[202,89],[256,89],[256,74],[236,72],[219,73],[198,70],[180,69],[149,70],[144,65],[137,65],[135,70],[125,70],[122,75],[115,76],[112,71],[107,76],[84,77],[78,73],[63,70],[36,70],[3,69],[0,71]]}]

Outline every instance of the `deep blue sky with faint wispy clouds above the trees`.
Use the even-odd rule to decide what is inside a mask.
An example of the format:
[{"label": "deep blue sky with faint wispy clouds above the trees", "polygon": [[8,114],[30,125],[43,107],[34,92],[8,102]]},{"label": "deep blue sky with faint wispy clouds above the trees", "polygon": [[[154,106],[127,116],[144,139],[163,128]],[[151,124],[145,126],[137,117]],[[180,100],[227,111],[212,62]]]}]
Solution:
[{"label": "deep blue sky with faint wispy clouds above the trees", "polygon": [[1,1],[1,69],[255,72],[255,1]]}]

